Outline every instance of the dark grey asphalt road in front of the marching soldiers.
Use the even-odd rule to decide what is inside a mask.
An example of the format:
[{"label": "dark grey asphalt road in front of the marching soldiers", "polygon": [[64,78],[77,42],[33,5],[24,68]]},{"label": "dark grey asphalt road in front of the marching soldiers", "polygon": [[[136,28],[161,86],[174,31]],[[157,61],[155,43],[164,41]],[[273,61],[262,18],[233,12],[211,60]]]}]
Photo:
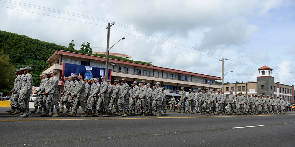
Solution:
[{"label": "dark grey asphalt road in front of the marching soldiers", "polygon": [[295,112],[21,118],[8,109],[0,108],[0,146],[294,146]]}]

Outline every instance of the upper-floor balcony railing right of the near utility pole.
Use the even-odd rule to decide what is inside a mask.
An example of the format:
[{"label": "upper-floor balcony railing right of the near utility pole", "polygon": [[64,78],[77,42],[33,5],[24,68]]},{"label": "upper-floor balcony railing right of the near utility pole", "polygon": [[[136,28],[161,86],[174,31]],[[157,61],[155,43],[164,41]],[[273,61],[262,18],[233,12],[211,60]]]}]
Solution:
[{"label": "upper-floor balcony railing right of the near utility pole", "polygon": [[186,82],[194,82],[194,83],[201,83],[201,84],[209,84],[209,85],[220,85],[220,84],[211,84],[210,82],[204,82],[204,81],[197,81],[197,80],[189,80],[187,78],[174,78],[174,77],[169,77],[166,75],[155,75],[152,74],[142,74],[142,73],[137,73],[137,72],[131,72],[131,71],[121,71],[121,70],[113,70],[114,72],[118,73],[124,73],[124,74],[131,74],[131,75],[137,75],[137,76],[148,76],[148,77],[154,77],[154,78],[164,78],[164,79],[171,79],[171,80],[177,80],[177,81],[186,81]]}]

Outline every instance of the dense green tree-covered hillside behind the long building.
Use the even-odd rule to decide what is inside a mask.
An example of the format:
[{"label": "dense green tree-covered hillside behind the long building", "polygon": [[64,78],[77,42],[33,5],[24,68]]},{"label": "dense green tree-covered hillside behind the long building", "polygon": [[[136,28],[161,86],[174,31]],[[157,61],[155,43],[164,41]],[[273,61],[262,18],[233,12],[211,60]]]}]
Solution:
[{"label": "dense green tree-covered hillside behind the long building", "polygon": [[[56,50],[71,51],[75,53],[89,54],[89,55],[95,55],[95,56],[104,56],[104,57],[106,56],[106,55],[92,54],[92,50],[91,50],[89,42],[87,42],[87,44],[85,44],[84,42],[84,45],[85,45],[84,51],[74,49],[75,44],[73,42],[74,40],[71,41],[71,43],[69,44],[67,48],[65,46],[60,46],[57,44],[40,41],[38,39],[32,39],[32,38],[29,38],[28,36],[18,35],[18,34],[6,32],[6,31],[0,31],[0,51],[1,51],[1,54],[4,54],[0,58],[1,62],[3,62],[1,63],[1,65],[11,64],[9,66],[0,66],[1,68],[0,78],[3,78],[4,80],[4,81],[1,80],[0,89],[11,90],[11,88],[13,87],[14,78],[15,78],[15,75],[14,75],[15,69],[25,67],[25,66],[30,66],[32,68],[32,71],[30,74],[32,74],[33,76],[33,86],[39,86],[41,82],[39,75],[42,73],[43,69],[45,69],[48,66],[48,63],[46,63],[46,61],[48,58],[50,58],[50,56]],[[88,50],[85,50],[85,49],[88,49]],[[128,60],[122,57],[117,57],[112,55],[110,55],[109,58],[129,61],[134,63],[140,63],[140,64],[148,64],[146,62]],[[148,65],[151,65],[151,64],[148,64]],[[4,84],[4,82],[6,83]]]}]

